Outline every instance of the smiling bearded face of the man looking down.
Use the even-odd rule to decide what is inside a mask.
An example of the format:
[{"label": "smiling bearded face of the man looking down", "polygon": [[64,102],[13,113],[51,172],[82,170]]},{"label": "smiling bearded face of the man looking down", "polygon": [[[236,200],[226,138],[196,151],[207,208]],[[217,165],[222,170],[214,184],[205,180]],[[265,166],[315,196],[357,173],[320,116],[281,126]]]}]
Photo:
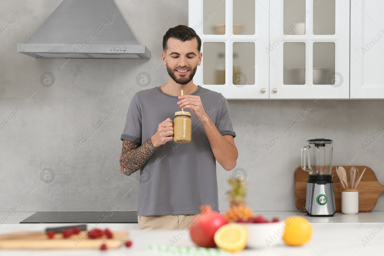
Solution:
[{"label": "smiling bearded face of the man looking down", "polygon": [[184,42],[169,38],[166,56],[164,53],[162,55],[169,76],[178,84],[187,84],[193,79],[197,66],[200,66],[203,54],[197,51],[196,38]]}]

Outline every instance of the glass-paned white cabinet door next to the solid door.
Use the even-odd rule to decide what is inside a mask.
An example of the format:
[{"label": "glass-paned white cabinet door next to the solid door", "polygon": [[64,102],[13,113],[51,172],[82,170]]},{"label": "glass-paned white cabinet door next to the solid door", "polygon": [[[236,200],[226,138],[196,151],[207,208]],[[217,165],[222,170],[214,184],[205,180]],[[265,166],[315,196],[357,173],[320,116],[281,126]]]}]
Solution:
[{"label": "glass-paned white cabinet door next to the solid door", "polygon": [[349,98],[349,0],[270,0],[270,98]]}]

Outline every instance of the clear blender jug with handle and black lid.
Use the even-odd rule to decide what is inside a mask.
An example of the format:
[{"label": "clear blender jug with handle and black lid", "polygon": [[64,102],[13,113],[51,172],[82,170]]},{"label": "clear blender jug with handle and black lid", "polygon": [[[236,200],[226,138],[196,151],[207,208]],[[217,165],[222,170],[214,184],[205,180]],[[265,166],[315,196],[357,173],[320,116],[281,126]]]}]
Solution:
[{"label": "clear blender jug with handle and black lid", "polygon": [[311,139],[307,142],[301,149],[301,168],[310,175],[331,175],[333,141]]}]

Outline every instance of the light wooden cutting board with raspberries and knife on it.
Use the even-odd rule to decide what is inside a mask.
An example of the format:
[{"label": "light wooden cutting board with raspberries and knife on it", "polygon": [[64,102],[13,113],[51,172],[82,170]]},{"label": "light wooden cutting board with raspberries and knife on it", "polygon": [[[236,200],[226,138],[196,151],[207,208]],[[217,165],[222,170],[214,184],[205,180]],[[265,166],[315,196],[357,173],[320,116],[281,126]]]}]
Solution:
[{"label": "light wooden cutting board with raspberries and knife on it", "polygon": [[100,249],[102,244],[107,248],[118,248],[128,238],[128,231],[113,231],[113,238],[105,235],[101,238],[90,238],[86,231],[64,238],[62,233],[50,239],[45,232],[21,231],[0,235],[0,249]]}]

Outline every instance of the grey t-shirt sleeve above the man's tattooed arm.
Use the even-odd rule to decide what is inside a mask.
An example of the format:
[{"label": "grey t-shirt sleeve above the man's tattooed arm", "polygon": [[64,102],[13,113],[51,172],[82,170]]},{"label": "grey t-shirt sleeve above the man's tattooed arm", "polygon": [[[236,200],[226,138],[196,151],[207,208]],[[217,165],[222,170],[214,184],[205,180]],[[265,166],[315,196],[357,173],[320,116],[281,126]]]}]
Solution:
[{"label": "grey t-shirt sleeve above the man's tattooed arm", "polygon": [[142,121],[140,102],[139,97],[137,97],[137,93],[135,93],[135,95],[132,97],[131,103],[129,104],[127,120],[125,122],[125,127],[120,139],[130,140],[141,144],[141,128]]}]

